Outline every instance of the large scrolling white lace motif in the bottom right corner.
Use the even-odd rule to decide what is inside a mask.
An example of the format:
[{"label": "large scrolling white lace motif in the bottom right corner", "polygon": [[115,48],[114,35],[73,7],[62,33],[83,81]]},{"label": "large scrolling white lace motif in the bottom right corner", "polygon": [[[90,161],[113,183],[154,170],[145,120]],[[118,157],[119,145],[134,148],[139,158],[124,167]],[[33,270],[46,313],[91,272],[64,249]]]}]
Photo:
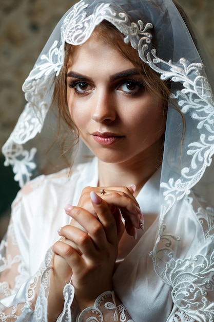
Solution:
[{"label": "large scrolling white lace motif in the bottom right corner", "polygon": [[[172,301],[194,320],[213,320],[214,303],[210,302],[207,296],[213,292],[214,252],[208,258],[199,254],[194,257],[189,256],[184,260],[171,259],[170,263],[167,263],[170,254],[162,254],[166,257],[166,266],[165,270],[161,267],[161,277],[164,282],[172,286]],[[158,260],[161,264],[164,261],[161,257],[155,257],[157,274],[160,273]]]}]

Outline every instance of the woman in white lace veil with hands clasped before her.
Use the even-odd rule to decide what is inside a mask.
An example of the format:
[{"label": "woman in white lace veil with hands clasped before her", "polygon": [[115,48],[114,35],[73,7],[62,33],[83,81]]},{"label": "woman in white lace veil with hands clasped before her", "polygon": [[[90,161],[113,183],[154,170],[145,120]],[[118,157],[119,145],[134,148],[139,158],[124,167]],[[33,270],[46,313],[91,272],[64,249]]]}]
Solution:
[{"label": "woman in white lace veil with hands clasped before her", "polygon": [[95,157],[18,193],[3,321],[214,318],[213,208],[197,194],[212,182],[213,75],[177,7],[81,1],[38,58],[4,147],[16,180],[31,175],[22,145],[52,101]]}]

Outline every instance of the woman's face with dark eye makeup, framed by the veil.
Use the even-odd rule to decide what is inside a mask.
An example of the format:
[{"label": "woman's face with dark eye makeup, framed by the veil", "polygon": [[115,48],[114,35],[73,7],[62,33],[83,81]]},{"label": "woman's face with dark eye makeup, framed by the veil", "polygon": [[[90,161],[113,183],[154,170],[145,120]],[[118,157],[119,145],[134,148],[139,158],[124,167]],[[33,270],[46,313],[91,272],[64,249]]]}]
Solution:
[{"label": "woman's face with dark eye makeup, framed by the veil", "polygon": [[136,164],[157,156],[165,130],[161,99],[146,90],[129,60],[97,37],[72,53],[67,101],[81,138],[102,162]]}]

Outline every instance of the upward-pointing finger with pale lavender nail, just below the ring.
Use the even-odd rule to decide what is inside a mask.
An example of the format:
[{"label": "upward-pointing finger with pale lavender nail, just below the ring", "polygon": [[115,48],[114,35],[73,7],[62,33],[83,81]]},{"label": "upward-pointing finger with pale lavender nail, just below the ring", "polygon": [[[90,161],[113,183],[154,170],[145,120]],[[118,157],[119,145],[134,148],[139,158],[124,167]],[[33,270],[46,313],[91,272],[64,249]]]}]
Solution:
[{"label": "upward-pointing finger with pale lavender nail, just below the ring", "polygon": [[111,244],[118,243],[118,228],[109,205],[94,191],[91,191],[90,196],[94,210],[98,214],[98,218],[104,227],[108,242]]}]

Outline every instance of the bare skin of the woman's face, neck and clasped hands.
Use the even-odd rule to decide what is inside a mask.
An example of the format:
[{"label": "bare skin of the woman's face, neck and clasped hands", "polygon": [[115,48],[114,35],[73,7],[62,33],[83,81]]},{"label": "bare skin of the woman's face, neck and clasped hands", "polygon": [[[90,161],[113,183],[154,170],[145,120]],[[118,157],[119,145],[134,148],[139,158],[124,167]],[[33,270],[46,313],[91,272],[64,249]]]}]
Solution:
[{"label": "bare skin of the woman's face, neck and clasped hands", "polygon": [[135,196],[161,163],[166,121],[163,103],[146,90],[144,77],[93,35],[72,54],[67,101],[81,138],[99,159],[99,187],[86,187],[77,207],[65,208],[72,219],[53,245],[50,321],[62,311],[71,275],[81,310],[112,290],[116,259],[142,235],[137,235],[143,217]]}]

